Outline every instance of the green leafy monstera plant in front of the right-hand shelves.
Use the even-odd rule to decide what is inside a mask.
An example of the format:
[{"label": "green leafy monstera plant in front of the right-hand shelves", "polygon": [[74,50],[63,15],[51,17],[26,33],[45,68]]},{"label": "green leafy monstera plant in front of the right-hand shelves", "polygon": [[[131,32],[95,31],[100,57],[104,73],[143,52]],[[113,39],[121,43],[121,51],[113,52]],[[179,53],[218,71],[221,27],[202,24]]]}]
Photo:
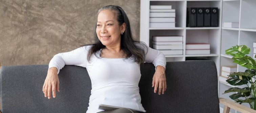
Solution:
[{"label": "green leafy monstera plant in front of the right-hand shelves", "polygon": [[[239,104],[249,103],[251,109],[256,110],[256,63],[254,59],[247,55],[250,53],[250,48],[246,45],[236,45],[227,49],[225,52],[226,54],[233,56],[233,63],[247,68],[244,72],[230,74],[226,81],[235,86],[246,84],[247,87],[232,87],[224,93],[235,92],[229,96],[232,100]],[[245,99],[239,99],[240,97],[244,97]]]}]

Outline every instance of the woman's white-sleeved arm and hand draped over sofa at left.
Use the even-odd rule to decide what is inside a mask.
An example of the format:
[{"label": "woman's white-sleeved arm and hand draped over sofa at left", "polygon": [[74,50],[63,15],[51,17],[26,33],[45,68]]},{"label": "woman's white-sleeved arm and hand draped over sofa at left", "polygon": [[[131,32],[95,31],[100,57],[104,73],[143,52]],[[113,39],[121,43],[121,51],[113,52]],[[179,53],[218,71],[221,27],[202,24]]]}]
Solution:
[{"label": "woman's white-sleeved arm and hand draped over sofa at left", "polygon": [[56,91],[59,90],[58,73],[65,65],[87,66],[88,46],[80,47],[70,52],[56,54],[49,63],[49,69],[43,85],[43,93],[48,99],[56,97]]}]

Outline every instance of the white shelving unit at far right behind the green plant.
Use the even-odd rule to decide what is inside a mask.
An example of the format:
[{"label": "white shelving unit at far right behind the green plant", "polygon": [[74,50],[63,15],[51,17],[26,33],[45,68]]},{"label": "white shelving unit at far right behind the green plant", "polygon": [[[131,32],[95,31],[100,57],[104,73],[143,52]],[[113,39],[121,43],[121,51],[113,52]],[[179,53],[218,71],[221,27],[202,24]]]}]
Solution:
[{"label": "white shelving unit at far right behind the green plant", "polygon": [[[223,0],[222,3],[222,25],[223,22],[238,22],[239,28],[225,28],[221,29],[221,50],[220,50],[220,68],[221,66],[237,66],[237,72],[243,72],[243,68],[233,63],[232,57],[226,55],[225,50],[235,45],[246,45],[251,48],[249,54],[253,58],[253,42],[256,42],[256,0]],[[231,86],[225,82],[220,81],[219,97],[230,99],[228,96],[231,93],[222,94]],[[242,86],[238,86],[242,87]],[[248,106],[247,104],[243,104]],[[232,113],[239,113],[232,111]]]}]

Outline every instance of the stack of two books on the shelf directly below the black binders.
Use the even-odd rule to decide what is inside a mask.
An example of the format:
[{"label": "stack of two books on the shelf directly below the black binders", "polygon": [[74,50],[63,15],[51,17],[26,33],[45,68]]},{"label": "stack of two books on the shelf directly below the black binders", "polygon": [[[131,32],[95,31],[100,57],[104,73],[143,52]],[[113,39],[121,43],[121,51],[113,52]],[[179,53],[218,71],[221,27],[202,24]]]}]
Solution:
[{"label": "stack of two books on the shelf directly below the black binders", "polygon": [[210,44],[186,43],[186,54],[210,54]]}]

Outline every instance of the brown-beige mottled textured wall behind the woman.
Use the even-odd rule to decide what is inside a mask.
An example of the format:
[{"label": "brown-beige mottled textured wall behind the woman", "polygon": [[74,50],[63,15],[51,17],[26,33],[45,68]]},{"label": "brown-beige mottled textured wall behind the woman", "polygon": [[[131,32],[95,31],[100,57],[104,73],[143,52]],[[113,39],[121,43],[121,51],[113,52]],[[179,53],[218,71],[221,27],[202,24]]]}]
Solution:
[{"label": "brown-beige mottled textured wall behind the woman", "polygon": [[0,0],[1,65],[48,64],[59,52],[93,43],[98,9],[119,5],[140,36],[140,0]]}]

